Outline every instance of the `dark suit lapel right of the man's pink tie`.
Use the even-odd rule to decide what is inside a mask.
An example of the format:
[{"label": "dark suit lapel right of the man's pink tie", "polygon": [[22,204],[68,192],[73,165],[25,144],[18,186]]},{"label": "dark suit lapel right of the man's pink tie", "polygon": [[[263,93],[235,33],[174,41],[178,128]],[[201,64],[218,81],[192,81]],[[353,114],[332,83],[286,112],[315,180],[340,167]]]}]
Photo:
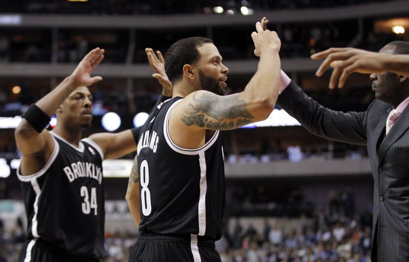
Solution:
[{"label": "dark suit lapel right of the man's pink tie", "polygon": [[391,145],[395,143],[395,141],[398,140],[398,138],[401,137],[402,134],[408,130],[408,128],[409,128],[409,109],[408,107],[406,107],[379,146],[378,151],[379,163],[382,162],[382,159],[385,156],[386,151],[388,151]]}]

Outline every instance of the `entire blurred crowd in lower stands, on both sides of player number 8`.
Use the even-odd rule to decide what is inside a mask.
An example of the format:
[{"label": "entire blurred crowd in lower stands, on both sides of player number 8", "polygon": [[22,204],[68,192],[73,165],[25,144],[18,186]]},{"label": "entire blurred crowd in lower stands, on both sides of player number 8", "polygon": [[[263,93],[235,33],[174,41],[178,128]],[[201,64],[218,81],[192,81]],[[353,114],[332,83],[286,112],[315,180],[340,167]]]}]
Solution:
[{"label": "entire blurred crowd in lower stands, on both sides of player number 8", "polygon": [[[262,217],[243,212],[232,215],[227,210],[223,237],[216,242],[222,261],[370,262],[372,205],[356,212],[354,198],[348,190],[328,193],[322,209],[311,205],[307,213],[296,216],[288,216],[286,212]],[[248,197],[257,198],[254,194]],[[245,205],[240,199],[236,201]],[[297,203],[287,205],[291,209]],[[0,262],[16,261],[24,242],[21,219],[15,224],[13,229],[5,231],[0,220]],[[105,232],[108,257],[103,261],[127,261],[136,239],[137,235],[123,230]]]}]

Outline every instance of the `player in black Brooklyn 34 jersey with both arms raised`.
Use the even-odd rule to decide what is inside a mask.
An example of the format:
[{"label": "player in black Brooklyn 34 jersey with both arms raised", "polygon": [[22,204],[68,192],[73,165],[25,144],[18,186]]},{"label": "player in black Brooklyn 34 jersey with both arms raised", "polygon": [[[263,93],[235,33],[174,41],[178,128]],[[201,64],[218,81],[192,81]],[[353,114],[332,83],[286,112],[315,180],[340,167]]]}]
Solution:
[{"label": "player in black Brooklyn 34 jersey with both arms raised", "polygon": [[[88,53],[70,76],[22,115],[15,130],[22,153],[17,176],[28,219],[20,262],[93,262],[106,255],[102,160],[135,151],[139,129],[81,139],[92,120],[87,86],[102,80],[90,74],[103,53],[100,48]],[[162,95],[164,100],[171,89]],[[54,113],[57,125],[47,131]]]}]

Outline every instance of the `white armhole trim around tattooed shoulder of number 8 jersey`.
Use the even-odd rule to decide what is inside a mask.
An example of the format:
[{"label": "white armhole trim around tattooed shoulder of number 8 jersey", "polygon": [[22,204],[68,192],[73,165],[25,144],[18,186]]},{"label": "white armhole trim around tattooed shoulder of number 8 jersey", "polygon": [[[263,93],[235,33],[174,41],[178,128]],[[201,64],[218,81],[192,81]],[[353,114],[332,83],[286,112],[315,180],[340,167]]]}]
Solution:
[{"label": "white armhole trim around tattooed shoulder of number 8 jersey", "polygon": [[168,109],[168,112],[166,112],[166,116],[165,116],[165,122],[163,124],[163,134],[165,136],[165,140],[168,143],[169,147],[180,154],[183,155],[199,155],[202,152],[205,152],[208,148],[210,148],[214,142],[216,142],[217,137],[219,136],[219,130],[215,131],[213,136],[209,139],[209,141],[207,141],[207,143],[205,143],[202,147],[197,148],[197,149],[187,149],[187,148],[182,148],[177,146],[172,139],[170,138],[170,134],[169,134],[169,130],[168,130],[168,125],[169,125],[169,117],[170,117],[170,112],[173,109],[173,106],[175,106],[177,103],[179,103],[180,101],[182,101],[182,99],[177,100],[176,102],[174,102],[170,108]]}]

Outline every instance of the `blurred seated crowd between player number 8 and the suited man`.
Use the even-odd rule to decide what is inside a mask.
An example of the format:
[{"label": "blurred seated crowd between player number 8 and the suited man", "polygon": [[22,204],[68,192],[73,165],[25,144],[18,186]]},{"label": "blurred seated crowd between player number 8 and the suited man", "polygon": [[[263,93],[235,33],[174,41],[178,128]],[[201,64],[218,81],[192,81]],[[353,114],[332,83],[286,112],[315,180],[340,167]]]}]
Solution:
[{"label": "blurred seated crowd between player number 8 and the suited man", "polygon": [[301,229],[285,229],[266,222],[261,233],[238,223],[216,246],[225,262],[370,262],[370,219],[318,211],[300,223]]}]

